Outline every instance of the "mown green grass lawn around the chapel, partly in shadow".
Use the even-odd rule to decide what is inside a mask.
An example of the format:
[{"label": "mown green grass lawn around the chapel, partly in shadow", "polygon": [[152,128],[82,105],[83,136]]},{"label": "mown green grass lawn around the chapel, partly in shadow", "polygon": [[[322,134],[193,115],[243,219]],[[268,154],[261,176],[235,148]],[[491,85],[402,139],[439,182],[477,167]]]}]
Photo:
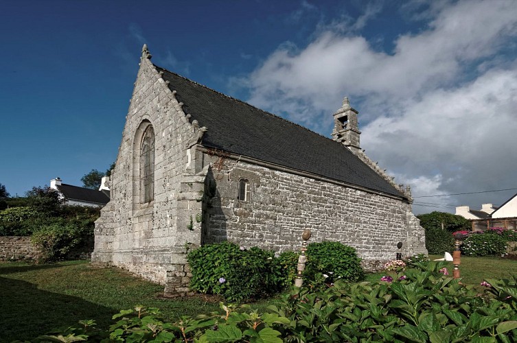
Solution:
[{"label": "mown green grass lawn around the chapel, partly in shadow", "polygon": [[[439,258],[431,256],[431,259]],[[517,261],[462,257],[463,283],[517,274]],[[452,263],[449,271],[452,275]],[[382,273],[369,274],[378,281]],[[28,340],[56,327],[95,319],[98,326],[113,324],[111,317],[134,305],[159,307],[167,318],[195,316],[218,309],[218,299],[194,296],[163,299],[163,286],[136,278],[117,268],[93,268],[89,261],[54,264],[0,262],[0,342]],[[264,309],[267,301],[253,304]]]}]

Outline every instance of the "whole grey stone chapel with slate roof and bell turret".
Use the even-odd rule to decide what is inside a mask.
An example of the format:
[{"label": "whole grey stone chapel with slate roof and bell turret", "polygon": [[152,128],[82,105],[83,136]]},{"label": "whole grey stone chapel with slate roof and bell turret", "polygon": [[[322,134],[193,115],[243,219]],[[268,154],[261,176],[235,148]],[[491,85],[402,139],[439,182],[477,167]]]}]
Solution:
[{"label": "whole grey stone chapel with slate roof and bell turret", "polygon": [[230,240],[282,252],[310,241],[356,248],[366,269],[426,254],[409,187],[360,148],[345,97],[332,139],[151,62],[143,46],[111,200],[95,222],[93,263],[188,292],[186,252]]}]

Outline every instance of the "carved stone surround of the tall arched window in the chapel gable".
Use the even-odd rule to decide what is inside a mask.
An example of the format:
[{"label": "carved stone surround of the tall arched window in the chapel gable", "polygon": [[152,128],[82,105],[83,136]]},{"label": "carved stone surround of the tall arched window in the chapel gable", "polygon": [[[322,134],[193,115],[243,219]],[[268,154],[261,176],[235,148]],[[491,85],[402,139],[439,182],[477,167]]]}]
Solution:
[{"label": "carved stone surround of the tall arched window in the chapel gable", "polygon": [[[150,139],[146,142],[146,139]],[[150,143],[150,144],[149,144]],[[152,149],[152,156],[148,156],[147,178],[143,180],[142,169],[145,165],[146,156],[143,156],[143,149],[146,145]],[[156,182],[154,180],[156,161],[156,134],[154,126],[148,119],[143,119],[139,124],[133,139],[133,215],[147,215],[152,213],[154,208],[154,193]],[[151,172],[152,171],[152,172]],[[145,171],[144,171],[145,172]],[[146,194],[147,189],[150,190]]]}]

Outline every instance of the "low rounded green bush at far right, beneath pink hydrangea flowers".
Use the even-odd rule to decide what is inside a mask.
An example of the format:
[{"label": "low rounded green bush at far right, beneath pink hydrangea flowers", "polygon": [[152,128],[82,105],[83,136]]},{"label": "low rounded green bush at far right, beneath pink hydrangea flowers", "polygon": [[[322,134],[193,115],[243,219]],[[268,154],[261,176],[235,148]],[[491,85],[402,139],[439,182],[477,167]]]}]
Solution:
[{"label": "low rounded green bush at far right, beneath pink hydrangea flowers", "polygon": [[466,256],[501,256],[506,253],[507,240],[493,233],[476,233],[461,244],[461,253]]}]

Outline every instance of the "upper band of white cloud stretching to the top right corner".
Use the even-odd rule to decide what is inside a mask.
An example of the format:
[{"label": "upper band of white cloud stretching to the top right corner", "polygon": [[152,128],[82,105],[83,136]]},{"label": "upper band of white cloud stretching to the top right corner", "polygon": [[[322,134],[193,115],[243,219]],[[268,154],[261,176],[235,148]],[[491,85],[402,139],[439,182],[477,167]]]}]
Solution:
[{"label": "upper band of white cloud stretching to the top right corner", "polygon": [[310,97],[313,110],[330,110],[343,93],[412,97],[455,80],[462,62],[494,54],[515,34],[516,19],[512,1],[463,1],[428,30],[400,36],[393,54],[374,51],[362,36],[323,32],[301,51],[284,45],[271,54],[250,77],[251,102],[282,109],[286,99]]}]

